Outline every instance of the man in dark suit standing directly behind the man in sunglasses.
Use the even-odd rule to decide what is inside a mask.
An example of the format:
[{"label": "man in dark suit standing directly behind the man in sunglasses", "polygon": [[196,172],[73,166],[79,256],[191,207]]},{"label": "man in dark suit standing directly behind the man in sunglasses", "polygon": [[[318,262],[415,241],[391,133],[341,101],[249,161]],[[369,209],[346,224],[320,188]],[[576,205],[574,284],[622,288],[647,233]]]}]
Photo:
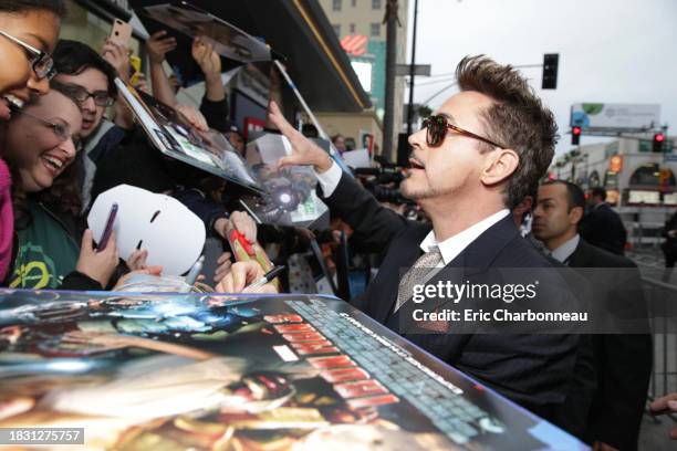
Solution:
[{"label": "man in dark suit standing directly behind the man in sunglasses", "polygon": [[[622,310],[625,314],[633,312],[637,321],[646,318],[644,297],[637,290],[642,280],[635,263],[595,248],[577,233],[584,208],[585,196],[576,185],[562,180],[543,183],[533,212],[534,237],[543,242],[546,254],[571,268],[619,269],[580,271],[604,286],[600,292],[605,298],[593,300],[602,304],[596,311],[608,315]],[[576,366],[576,391],[560,416],[581,420],[573,427],[580,430],[572,432],[590,442],[619,450],[637,449],[652,368],[650,336],[616,333],[591,338],[593,367]]]}]

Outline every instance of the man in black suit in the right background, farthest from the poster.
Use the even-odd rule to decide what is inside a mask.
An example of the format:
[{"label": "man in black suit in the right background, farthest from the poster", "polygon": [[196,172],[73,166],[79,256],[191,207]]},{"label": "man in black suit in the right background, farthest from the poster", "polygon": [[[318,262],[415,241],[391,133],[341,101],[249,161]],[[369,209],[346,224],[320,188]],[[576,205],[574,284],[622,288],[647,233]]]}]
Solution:
[{"label": "man in black suit in the right background, farthest from the poster", "polygon": [[625,255],[627,231],[618,213],[606,202],[604,188],[593,188],[591,208],[581,220],[579,233],[592,245],[616,255]]}]

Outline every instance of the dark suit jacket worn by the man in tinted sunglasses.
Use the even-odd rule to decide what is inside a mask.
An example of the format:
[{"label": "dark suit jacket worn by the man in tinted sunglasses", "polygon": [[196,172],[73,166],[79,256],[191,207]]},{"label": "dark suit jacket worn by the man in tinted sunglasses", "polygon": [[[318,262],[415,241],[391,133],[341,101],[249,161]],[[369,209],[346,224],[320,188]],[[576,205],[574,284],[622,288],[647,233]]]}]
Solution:
[{"label": "dark suit jacket worn by the man in tinted sunglasses", "polygon": [[[397,332],[397,317],[392,312],[397,298],[399,272],[412,266],[420,255],[419,244],[431,226],[406,221],[381,206],[346,175],[326,202],[361,240],[387,249],[376,279],[366,293],[354,301],[354,305]],[[550,268],[550,263],[519,234],[509,216],[470,243],[450,266]],[[528,334],[405,336],[441,360],[548,418],[552,407],[565,398],[579,339],[575,335]]]}]

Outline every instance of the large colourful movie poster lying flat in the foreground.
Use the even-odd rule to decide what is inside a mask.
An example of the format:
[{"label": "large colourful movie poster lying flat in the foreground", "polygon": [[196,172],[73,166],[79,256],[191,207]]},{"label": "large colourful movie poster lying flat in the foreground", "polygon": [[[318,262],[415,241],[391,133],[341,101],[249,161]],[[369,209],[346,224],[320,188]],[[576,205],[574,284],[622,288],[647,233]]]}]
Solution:
[{"label": "large colourful movie poster lying flat in the foreground", "polygon": [[585,449],[348,304],[296,295],[0,291],[0,428],[17,427],[84,428],[79,450]]}]

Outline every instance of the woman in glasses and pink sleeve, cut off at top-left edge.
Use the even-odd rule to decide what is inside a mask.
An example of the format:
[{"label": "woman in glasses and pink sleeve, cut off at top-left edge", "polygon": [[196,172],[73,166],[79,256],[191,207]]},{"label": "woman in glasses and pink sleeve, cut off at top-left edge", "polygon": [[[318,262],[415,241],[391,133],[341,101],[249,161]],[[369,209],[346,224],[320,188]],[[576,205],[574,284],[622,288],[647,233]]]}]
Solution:
[{"label": "woman in glasses and pink sleeve, cut off at top-left edge", "polygon": [[[50,52],[56,45],[63,0],[0,0],[0,123],[34,94],[45,94],[54,75]],[[0,147],[0,157],[3,151]],[[0,280],[12,253],[11,178],[0,158]]]}]

